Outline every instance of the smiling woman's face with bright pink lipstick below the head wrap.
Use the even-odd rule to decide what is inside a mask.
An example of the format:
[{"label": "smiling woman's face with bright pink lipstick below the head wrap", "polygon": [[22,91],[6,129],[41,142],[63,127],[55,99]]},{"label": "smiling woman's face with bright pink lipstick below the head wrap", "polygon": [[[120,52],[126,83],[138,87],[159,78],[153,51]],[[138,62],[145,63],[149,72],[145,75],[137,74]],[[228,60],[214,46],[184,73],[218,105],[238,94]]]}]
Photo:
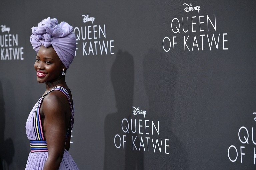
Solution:
[{"label": "smiling woman's face with bright pink lipstick below the head wrap", "polygon": [[66,69],[54,48],[52,46],[44,47],[43,45],[41,45],[36,55],[34,68],[39,83],[54,82],[60,79],[63,69]]}]

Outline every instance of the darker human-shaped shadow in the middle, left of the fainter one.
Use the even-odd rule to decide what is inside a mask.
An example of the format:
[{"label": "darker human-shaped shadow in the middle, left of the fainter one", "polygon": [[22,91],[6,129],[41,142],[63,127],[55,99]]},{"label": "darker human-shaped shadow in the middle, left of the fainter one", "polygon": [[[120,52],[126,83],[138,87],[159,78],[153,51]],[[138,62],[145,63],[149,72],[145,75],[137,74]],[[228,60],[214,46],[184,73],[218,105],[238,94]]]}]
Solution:
[{"label": "darker human-shaped shadow in the middle, left of the fainter one", "polygon": [[[128,52],[118,50],[111,68],[111,81],[117,112],[108,114],[105,118],[104,170],[144,170],[143,152],[132,149],[132,136],[138,138],[138,135],[130,130],[126,133],[122,130],[123,119],[127,119],[128,122],[131,120],[133,105],[134,62],[133,56]],[[123,127],[126,126],[123,123]]]}]

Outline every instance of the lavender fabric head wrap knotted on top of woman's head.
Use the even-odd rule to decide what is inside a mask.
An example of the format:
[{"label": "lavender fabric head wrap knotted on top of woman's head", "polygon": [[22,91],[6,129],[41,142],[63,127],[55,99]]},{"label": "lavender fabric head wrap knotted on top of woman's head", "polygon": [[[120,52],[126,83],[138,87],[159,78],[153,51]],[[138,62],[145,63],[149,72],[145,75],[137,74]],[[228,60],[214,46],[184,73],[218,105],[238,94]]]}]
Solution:
[{"label": "lavender fabric head wrap knotted on top of woman's head", "polygon": [[62,63],[68,68],[76,50],[76,38],[72,31],[73,27],[68,23],[58,24],[56,18],[49,17],[40,22],[38,27],[32,27],[30,42],[36,52],[41,45],[44,47],[52,45]]}]

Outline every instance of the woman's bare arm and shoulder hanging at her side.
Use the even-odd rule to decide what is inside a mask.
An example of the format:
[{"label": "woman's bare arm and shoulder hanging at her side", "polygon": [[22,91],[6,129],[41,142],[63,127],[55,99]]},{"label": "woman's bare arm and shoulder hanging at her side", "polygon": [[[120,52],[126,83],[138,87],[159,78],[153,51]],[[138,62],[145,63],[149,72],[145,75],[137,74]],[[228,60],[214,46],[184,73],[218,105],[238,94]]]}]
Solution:
[{"label": "woman's bare arm and shoulder hanging at her side", "polygon": [[65,147],[67,106],[69,108],[66,96],[57,90],[43,100],[41,113],[44,116],[43,128],[48,148],[43,170],[59,169]]}]

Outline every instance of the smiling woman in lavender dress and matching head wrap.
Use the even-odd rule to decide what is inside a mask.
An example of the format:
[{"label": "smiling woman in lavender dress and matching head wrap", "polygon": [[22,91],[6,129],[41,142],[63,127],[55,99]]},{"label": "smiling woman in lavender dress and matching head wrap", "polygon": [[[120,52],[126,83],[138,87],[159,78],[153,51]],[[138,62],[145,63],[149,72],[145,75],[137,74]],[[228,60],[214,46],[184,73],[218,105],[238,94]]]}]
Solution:
[{"label": "smiling woman in lavender dress and matching head wrap", "polygon": [[73,27],[57,19],[44,19],[32,27],[30,42],[37,52],[34,68],[37,81],[45,83],[26,123],[30,153],[26,170],[76,170],[69,154],[74,106],[65,73],[76,49]]}]

